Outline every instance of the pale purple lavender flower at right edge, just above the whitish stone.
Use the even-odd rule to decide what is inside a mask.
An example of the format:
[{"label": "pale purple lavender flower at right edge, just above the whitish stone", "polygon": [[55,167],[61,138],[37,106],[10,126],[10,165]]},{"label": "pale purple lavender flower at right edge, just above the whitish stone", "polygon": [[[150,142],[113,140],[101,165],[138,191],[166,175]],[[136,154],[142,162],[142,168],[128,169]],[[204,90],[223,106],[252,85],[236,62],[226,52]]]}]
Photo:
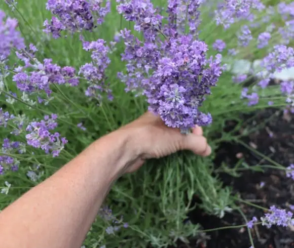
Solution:
[{"label": "pale purple lavender flower at right edge, just above the whitish stone", "polygon": [[276,45],[261,63],[270,73],[281,72],[283,68],[294,66],[294,49],[284,45]]}]

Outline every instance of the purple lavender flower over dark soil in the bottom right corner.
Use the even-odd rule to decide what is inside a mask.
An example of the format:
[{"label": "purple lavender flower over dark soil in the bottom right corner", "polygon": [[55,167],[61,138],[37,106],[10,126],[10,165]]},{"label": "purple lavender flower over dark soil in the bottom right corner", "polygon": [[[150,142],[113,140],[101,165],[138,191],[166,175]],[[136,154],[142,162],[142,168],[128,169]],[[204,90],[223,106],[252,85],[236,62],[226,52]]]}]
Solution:
[{"label": "purple lavender flower over dark soil in the bottom right corner", "polygon": [[270,207],[270,213],[265,214],[265,217],[261,218],[262,225],[270,228],[272,225],[287,227],[293,224],[291,212],[277,209],[276,206]]}]

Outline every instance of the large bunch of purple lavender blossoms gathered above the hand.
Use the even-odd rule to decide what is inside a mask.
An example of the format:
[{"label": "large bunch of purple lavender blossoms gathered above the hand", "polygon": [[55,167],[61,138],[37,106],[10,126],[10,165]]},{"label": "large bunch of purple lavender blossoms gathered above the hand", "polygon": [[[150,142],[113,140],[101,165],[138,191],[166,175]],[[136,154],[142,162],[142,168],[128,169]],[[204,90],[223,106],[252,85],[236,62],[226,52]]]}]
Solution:
[{"label": "large bunch of purple lavender blossoms gathered above the hand", "polygon": [[185,1],[169,1],[168,24],[164,26],[164,17],[149,0],[131,0],[118,6],[119,13],[134,21],[135,29],[144,35],[141,42],[130,30],[121,30],[126,46],[122,60],[127,63],[127,73],[120,72],[119,78],[126,83],[126,91],[145,95],[149,110],[168,127],[182,132],[211,123],[211,115],[200,112],[199,107],[224,69],[220,54],[215,59],[206,58],[207,45],[196,40],[194,34],[182,34],[184,9],[180,3],[186,3],[186,13],[188,8],[195,15],[202,1],[195,2],[191,7]]}]

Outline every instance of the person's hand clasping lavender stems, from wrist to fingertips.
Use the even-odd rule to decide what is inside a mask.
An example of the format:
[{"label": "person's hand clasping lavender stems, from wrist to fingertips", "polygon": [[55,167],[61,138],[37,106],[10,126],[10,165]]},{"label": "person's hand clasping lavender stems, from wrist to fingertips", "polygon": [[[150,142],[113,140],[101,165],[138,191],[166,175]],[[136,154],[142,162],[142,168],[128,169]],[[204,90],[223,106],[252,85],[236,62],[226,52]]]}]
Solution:
[{"label": "person's hand clasping lavender stems, from wrist to fingertips", "polygon": [[136,171],[145,159],[160,158],[179,150],[191,150],[200,156],[211,153],[200,127],[195,127],[191,134],[181,134],[179,129],[165,126],[161,118],[151,112],[146,112],[120,130],[130,133],[132,147],[137,154],[125,172]]}]

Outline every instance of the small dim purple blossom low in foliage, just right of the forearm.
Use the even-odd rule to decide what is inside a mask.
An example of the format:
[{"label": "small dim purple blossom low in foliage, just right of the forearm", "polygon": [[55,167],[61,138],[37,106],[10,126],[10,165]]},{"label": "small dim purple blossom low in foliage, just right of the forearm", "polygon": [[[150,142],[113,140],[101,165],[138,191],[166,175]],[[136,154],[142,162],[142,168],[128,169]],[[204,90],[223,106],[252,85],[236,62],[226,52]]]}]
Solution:
[{"label": "small dim purple blossom low in foliage, just right of the forearm", "polygon": [[103,206],[98,212],[98,215],[107,223],[111,224],[106,227],[105,232],[108,235],[115,234],[115,232],[119,231],[122,227],[128,228],[128,223],[123,222],[123,216],[120,219],[117,219],[111,209],[107,206]]}]

